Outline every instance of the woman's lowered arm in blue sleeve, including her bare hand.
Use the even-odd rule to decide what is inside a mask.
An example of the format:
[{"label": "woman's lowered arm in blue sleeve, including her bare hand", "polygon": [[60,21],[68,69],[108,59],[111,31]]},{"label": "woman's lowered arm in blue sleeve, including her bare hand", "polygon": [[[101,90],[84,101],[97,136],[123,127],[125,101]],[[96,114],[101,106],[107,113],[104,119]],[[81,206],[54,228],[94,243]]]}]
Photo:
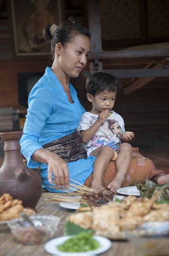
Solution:
[{"label": "woman's lowered arm in blue sleeve, including her bare hand", "polygon": [[[38,143],[41,132],[46,123],[46,119],[51,115],[53,107],[53,92],[47,85],[39,83],[38,88],[34,88],[29,96],[29,108],[26,116],[24,133],[20,141],[21,153],[25,155],[29,167],[36,168],[39,163],[48,164],[48,179],[51,182],[52,172],[55,176],[57,186],[69,185],[69,172],[67,163],[55,153],[44,149]],[[45,119],[41,119],[45,116]],[[48,137],[48,132],[46,132]]]}]

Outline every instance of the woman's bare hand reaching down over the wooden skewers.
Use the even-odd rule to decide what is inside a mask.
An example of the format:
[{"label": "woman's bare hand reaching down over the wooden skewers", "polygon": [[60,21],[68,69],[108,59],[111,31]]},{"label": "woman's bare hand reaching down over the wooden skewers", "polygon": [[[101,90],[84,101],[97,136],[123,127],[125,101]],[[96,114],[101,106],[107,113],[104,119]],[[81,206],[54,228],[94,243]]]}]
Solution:
[{"label": "woman's bare hand reaching down over the wooden skewers", "polygon": [[55,182],[58,187],[69,186],[69,170],[67,163],[55,153],[51,153],[46,157],[48,164],[48,181],[52,181],[52,173],[54,173]]}]

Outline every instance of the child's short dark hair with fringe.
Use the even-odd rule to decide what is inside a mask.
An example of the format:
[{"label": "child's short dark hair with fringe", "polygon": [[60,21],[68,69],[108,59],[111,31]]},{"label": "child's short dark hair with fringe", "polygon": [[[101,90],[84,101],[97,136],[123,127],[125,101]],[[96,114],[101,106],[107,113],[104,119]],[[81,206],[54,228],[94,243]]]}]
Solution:
[{"label": "child's short dark hair with fringe", "polygon": [[86,90],[88,94],[96,96],[107,90],[108,92],[119,92],[121,82],[111,74],[96,72],[91,74],[86,81]]}]

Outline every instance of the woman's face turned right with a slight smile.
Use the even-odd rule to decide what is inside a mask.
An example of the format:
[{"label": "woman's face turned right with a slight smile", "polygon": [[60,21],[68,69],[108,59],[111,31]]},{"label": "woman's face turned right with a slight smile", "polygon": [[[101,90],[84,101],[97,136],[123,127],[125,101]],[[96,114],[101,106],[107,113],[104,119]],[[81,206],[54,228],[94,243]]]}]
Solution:
[{"label": "woman's face turned right with a slight smile", "polygon": [[87,36],[77,34],[72,42],[62,48],[58,64],[69,77],[78,77],[87,64],[90,40]]}]

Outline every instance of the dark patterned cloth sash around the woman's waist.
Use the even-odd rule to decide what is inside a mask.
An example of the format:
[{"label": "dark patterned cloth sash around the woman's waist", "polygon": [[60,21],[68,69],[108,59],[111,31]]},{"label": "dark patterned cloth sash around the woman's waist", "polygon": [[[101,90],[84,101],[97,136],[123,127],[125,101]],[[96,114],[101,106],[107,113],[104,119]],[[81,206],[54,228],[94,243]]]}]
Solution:
[{"label": "dark patterned cloth sash around the woman's waist", "polygon": [[86,150],[82,147],[81,138],[77,131],[44,144],[43,148],[49,149],[51,152],[59,155],[66,162],[74,162],[87,158]]}]

